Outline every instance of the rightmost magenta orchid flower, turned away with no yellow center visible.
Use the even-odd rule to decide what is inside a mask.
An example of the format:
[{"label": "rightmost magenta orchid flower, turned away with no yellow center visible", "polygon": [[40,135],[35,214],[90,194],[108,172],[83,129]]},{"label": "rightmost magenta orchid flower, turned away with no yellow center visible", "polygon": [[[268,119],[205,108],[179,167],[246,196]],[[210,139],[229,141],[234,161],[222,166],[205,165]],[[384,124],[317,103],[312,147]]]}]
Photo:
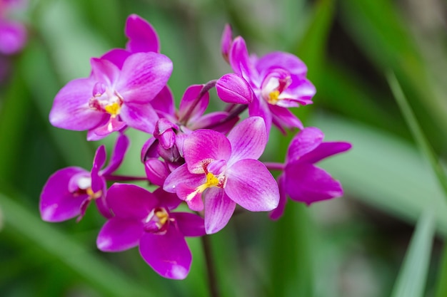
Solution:
[{"label": "rightmost magenta orchid flower, turned away with no yellow center visible", "polygon": [[323,132],[306,127],[291,141],[283,173],[278,177],[281,199],[278,208],[271,212],[272,219],[283,214],[287,196],[296,202],[310,205],[314,202],[343,195],[341,183],[314,164],[326,157],[350,150],[348,142],[323,142]]}]

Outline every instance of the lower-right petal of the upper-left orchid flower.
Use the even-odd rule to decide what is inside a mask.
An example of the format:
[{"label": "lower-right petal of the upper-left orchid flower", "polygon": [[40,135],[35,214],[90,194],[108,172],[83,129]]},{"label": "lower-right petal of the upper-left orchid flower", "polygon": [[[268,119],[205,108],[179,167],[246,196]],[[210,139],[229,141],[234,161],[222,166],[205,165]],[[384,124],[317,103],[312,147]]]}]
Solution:
[{"label": "lower-right petal of the upper-left orchid flower", "polygon": [[124,103],[120,117],[129,127],[149,134],[154,132],[155,124],[159,120],[150,103]]}]

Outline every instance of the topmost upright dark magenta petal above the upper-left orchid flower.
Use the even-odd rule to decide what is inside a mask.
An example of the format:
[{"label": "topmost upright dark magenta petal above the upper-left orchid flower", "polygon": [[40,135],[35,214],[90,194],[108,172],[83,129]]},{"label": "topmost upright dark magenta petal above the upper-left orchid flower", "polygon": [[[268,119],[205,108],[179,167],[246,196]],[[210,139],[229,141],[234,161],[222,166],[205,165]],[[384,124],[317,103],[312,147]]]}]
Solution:
[{"label": "topmost upright dark magenta petal above the upper-left orchid flower", "polygon": [[131,14],[126,20],[126,36],[129,41],[126,49],[131,53],[154,51],[159,53],[159,36],[146,20],[136,14]]}]

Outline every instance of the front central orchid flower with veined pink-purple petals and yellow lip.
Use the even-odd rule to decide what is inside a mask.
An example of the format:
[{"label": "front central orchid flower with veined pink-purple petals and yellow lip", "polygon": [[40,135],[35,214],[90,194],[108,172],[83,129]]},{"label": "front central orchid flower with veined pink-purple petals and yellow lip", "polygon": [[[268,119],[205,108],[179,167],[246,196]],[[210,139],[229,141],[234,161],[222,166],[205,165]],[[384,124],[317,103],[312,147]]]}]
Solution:
[{"label": "front central orchid flower with veined pink-purple petals and yellow lip", "polygon": [[183,147],[186,164],[169,174],[164,189],[190,209],[204,209],[207,234],[224,228],[236,204],[251,212],[272,210],[278,205],[278,186],[257,160],[266,142],[260,117],[243,120],[228,137],[214,130],[191,132]]}]

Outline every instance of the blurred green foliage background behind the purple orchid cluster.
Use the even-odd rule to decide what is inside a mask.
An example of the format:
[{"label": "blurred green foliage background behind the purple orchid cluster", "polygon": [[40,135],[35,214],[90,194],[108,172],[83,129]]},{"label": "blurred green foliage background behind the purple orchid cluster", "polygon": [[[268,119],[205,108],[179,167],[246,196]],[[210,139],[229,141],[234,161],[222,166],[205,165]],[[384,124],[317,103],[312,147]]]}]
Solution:
[{"label": "blurred green foliage background behind the purple orchid cluster", "polygon": [[[46,179],[91,168],[96,147],[114,142],[86,142],[86,132],[51,127],[48,115],[65,83],[89,75],[89,58],[125,46],[129,14],[159,33],[177,103],[187,86],[231,71],[220,53],[228,23],[251,53],[301,58],[317,94],[294,112],[326,140],[353,144],[320,164],[344,197],[289,202],[276,222],[243,213],[210,236],[222,296],[447,296],[447,200],[429,162],[447,157],[445,0],[30,0],[9,11],[28,39],[0,56],[0,296],[208,296],[200,239],[188,239],[188,278],[171,281],[137,249],[99,252],[104,219],[94,208],[79,223],[40,219]],[[399,85],[433,155],[418,149],[396,103]],[[282,162],[292,136],[274,132],[263,159]],[[131,137],[120,170],[144,174],[147,136]]]}]

